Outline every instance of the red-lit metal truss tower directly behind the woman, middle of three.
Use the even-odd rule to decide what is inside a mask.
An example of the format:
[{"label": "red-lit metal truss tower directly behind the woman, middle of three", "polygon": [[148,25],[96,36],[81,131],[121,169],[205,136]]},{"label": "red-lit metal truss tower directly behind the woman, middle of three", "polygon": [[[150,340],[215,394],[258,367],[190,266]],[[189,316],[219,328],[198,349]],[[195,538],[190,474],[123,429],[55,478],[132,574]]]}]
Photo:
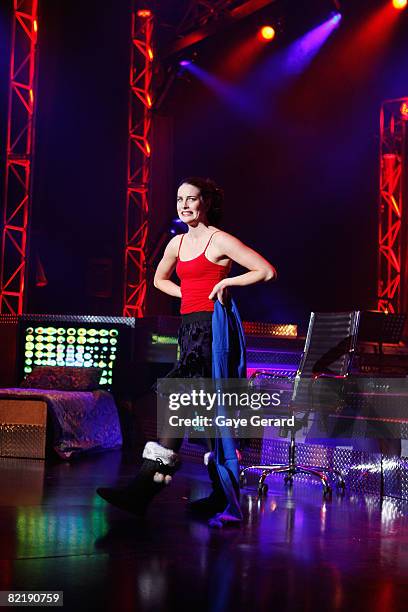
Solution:
[{"label": "red-lit metal truss tower directly behind the woman, middle of three", "polygon": [[153,16],[132,14],[128,176],[125,218],[123,316],[142,317],[146,298],[146,248],[150,201]]}]

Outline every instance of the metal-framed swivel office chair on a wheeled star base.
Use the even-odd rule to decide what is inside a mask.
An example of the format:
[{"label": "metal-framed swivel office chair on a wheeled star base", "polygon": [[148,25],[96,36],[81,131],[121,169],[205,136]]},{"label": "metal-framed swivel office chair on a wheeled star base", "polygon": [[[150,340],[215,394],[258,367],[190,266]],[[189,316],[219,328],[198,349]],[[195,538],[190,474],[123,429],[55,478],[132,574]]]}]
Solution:
[{"label": "metal-framed swivel office chair on a wheeled star base", "polygon": [[[258,482],[258,493],[265,495],[268,486],[265,479],[270,474],[286,474],[285,484],[292,484],[295,474],[309,474],[319,478],[323,485],[323,493],[329,496],[332,492],[328,475],[337,478],[337,486],[344,490],[344,480],[337,470],[323,468],[320,466],[298,465],[296,462],[296,432],[306,427],[309,423],[310,413],[313,411],[313,394],[316,382],[319,379],[337,380],[340,386],[347,378],[353,353],[357,342],[357,331],[360,320],[360,312],[333,312],[333,313],[311,313],[306,342],[300,364],[293,379],[293,391],[289,406],[285,414],[292,413],[295,416],[295,427],[281,432],[286,437],[290,433],[289,456],[287,464],[275,465],[251,465],[243,468],[240,473],[240,484],[245,486],[246,473],[249,470],[262,470]],[[257,370],[250,378],[252,387],[262,387],[265,383],[276,384],[279,376],[263,370]],[[286,378],[287,381],[287,378]],[[326,393],[330,393],[330,384]],[[318,390],[320,405],[325,401],[324,386]],[[333,399],[332,397],[328,399]],[[296,415],[303,412],[301,418]],[[275,411],[274,411],[275,413]]]}]

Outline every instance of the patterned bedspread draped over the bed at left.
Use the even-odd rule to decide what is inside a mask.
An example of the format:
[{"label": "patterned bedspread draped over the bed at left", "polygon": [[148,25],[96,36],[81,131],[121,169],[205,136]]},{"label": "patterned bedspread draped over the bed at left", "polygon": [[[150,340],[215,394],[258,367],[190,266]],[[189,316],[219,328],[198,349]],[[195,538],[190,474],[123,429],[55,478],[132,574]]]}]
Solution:
[{"label": "patterned bedspread draped over the bed at left", "polygon": [[0,389],[1,399],[41,399],[53,422],[52,445],[62,459],[122,446],[118,411],[108,391]]}]

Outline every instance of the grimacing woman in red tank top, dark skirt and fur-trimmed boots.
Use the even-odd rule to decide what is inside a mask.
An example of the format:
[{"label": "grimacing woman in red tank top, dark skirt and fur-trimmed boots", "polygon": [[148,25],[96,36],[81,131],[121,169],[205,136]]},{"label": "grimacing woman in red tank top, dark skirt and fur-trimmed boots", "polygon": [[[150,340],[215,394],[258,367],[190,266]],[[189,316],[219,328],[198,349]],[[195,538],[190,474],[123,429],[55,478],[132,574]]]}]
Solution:
[{"label": "grimacing woman in red tank top, dark skirt and fur-trimmed boots", "polygon": [[[181,299],[179,330],[180,357],[169,377],[212,376],[212,320],[214,302],[228,309],[229,287],[243,287],[276,278],[275,268],[259,253],[220,230],[223,192],[200,177],[183,180],[177,192],[177,213],[188,230],[168,243],[154,277],[154,286]],[[229,277],[232,262],[247,272]],[[180,285],[171,280],[172,274]],[[143,463],[136,478],[124,488],[98,489],[106,501],[135,514],[143,514],[148,503],[177,471],[182,438],[166,431],[158,442],[147,442]],[[208,463],[213,484],[209,498],[193,503],[192,509],[212,516],[226,506],[214,461]]]}]

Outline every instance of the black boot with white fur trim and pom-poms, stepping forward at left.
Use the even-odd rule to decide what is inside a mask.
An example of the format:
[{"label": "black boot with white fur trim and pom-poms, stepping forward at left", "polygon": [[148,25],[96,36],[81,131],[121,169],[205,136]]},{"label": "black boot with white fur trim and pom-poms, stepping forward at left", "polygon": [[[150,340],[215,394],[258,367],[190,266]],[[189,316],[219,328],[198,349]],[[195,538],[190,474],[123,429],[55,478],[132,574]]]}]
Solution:
[{"label": "black boot with white fur trim and pom-poms, stepping forward at left", "polygon": [[143,516],[153,497],[170,484],[180,469],[178,454],[157,442],[147,442],[137,476],[125,487],[100,487],[98,495],[113,506]]}]

